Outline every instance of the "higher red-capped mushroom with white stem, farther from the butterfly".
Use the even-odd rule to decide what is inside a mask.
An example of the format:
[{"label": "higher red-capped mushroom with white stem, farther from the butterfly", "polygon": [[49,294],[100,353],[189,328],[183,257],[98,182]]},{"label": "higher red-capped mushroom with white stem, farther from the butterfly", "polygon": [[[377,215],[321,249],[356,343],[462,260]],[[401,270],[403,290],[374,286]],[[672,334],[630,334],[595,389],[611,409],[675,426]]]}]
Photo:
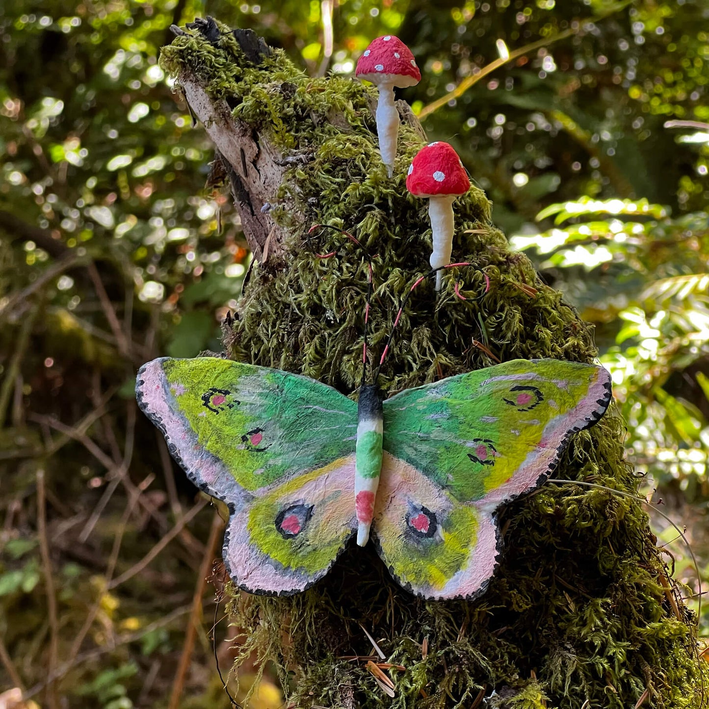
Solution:
[{"label": "higher red-capped mushroom with white stem, farther from the butterfly", "polygon": [[376,38],[364,50],[354,73],[358,79],[372,82],[379,89],[376,133],[379,136],[381,160],[391,177],[399,125],[398,111],[394,106],[394,87],[415,86],[421,80],[421,72],[411,50],[398,37],[386,35]]}]

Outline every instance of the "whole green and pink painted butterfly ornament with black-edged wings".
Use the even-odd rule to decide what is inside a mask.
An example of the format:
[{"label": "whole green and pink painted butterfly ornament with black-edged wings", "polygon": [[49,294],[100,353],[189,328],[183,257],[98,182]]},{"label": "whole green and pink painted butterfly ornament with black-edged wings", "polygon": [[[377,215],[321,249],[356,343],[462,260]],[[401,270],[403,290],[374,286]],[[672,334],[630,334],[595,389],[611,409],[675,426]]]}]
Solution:
[{"label": "whole green and pink painted butterfly ornament with black-edged wings", "polygon": [[303,591],[356,536],[362,547],[372,537],[411,593],[476,596],[498,564],[498,508],[542,484],[611,397],[605,369],[555,359],[384,401],[378,374],[355,403],[306,376],[218,357],[140,368],[140,408],[189,478],[228,505],[223,559],[240,588]]}]

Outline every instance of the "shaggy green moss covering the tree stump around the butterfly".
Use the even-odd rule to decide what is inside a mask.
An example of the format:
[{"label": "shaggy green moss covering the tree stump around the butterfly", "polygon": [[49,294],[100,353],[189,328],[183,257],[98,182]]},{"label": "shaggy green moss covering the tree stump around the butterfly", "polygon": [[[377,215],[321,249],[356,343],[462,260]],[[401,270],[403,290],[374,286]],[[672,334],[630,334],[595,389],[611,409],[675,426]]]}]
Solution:
[{"label": "shaggy green moss covering the tree stump around the butterfly", "polygon": [[[428,269],[428,205],[404,186],[421,139],[403,126],[395,177],[387,179],[372,91],[348,79],[306,77],[278,51],[250,65],[221,29],[226,34],[215,45],[177,38],[164,50],[164,65],[178,78],[183,70],[196,74],[284,156],[305,157],[272,200],[275,218],[289,228],[284,255],[255,269],[225,348],[230,357],[354,393],[362,375],[365,253],[330,230],[308,235],[308,228],[352,230],[372,256],[370,352],[379,354],[401,298]],[[382,369],[385,391],[518,357],[592,362],[590,326],[526,257],[508,250],[484,193],[471,188],[455,211],[454,257],[474,269],[447,274],[438,298],[430,283],[415,292]],[[455,279],[465,300],[454,294]],[[635,490],[622,440],[622,421],[608,413],[574,437],[555,476]],[[670,602],[674,592],[662,583],[666,571],[637,503],[546,484],[504,508],[501,528],[502,564],[472,603],[413,598],[371,549],[359,548],[298,596],[235,594],[235,623],[246,633],[240,660],[255,651],[272,661],[297,707],[469,707],[493,690],[490,705],[520,709],[626,709],[644,694],[651,707],[701,705],[694,619],[678,594]],[[371,651],[362,626],[406,668],[391,670],[394,698],[351,659]]]}]

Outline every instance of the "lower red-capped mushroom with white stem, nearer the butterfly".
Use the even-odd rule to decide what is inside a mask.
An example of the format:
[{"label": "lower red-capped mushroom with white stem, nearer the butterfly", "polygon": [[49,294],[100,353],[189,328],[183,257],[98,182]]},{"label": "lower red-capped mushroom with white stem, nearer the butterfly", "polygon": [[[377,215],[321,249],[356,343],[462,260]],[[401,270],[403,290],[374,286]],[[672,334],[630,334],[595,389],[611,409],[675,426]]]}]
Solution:
[{"label": "lower red-capped mushroom with white stem, nearer the butterfly", "polygon": [[[406,188],[415,197],[428,198],[428,216],[433,233],[431,268],[450,264],[453,250],[453,200],[465,194],[470,180],[457,152],[448,143],[430,143],[419,150],[406,177]],[[436,274],[441,289],[443,272]]]}]

